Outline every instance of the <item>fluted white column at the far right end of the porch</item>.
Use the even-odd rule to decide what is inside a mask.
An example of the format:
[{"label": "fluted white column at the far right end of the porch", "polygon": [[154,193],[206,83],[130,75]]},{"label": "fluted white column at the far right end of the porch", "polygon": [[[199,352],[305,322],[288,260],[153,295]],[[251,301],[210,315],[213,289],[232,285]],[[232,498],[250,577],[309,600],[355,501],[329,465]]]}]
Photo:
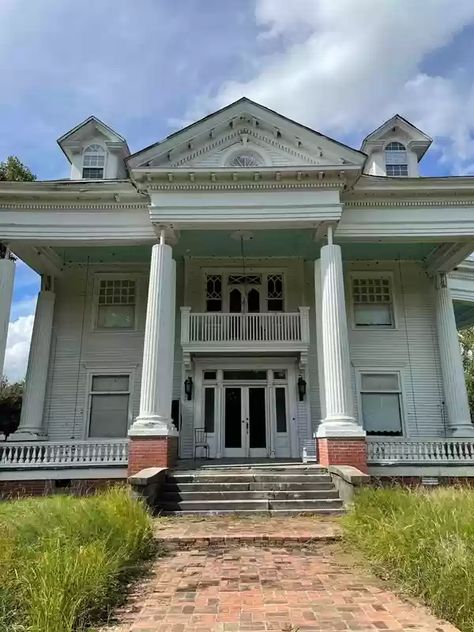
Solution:
[{"label": "fluted white column at the far right end of the porch", "polygon": [[473,437],[466,381],[462,366],[456,319],[445,274],[436,279],[436,326],[443,377],[448,432],[452,437]]}]

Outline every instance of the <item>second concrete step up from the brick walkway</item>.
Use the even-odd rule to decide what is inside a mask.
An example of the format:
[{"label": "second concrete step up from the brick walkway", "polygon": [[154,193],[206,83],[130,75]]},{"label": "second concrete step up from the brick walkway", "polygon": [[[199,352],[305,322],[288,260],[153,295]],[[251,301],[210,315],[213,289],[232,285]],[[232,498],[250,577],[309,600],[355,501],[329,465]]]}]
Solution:
[{"label": "second concrete step up from the brick walkway", "polygon": [[304,491],[171,491],[165,490],[162,496],[163,502],[174,502],[180,500],[318,500],[318,499],[339,499],[336,490],[304,490]]}]

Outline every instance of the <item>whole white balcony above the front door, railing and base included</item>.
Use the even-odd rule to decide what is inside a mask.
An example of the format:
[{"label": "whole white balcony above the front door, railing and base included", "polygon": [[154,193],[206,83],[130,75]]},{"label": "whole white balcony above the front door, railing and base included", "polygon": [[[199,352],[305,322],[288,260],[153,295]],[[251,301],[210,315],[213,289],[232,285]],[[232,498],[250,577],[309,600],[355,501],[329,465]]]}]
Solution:
[{"label": "whole white balcony above the front door, railing and base included", "polygon": [[200,351],[295,351],[309,345],[309,307],[297,312],[200,313],[181,308],[181,344]]}]

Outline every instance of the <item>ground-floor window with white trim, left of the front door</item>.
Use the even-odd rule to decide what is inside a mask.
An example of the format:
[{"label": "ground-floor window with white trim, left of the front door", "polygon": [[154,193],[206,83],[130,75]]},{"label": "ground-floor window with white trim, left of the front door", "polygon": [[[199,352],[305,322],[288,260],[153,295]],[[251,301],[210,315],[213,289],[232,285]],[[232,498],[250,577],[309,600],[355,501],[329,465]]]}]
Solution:
[{"label": "ground-floor window with white trim, left of the front door", "polygon": [[89,392],[89,437],[126,437],[130,375],[93,375]]}]

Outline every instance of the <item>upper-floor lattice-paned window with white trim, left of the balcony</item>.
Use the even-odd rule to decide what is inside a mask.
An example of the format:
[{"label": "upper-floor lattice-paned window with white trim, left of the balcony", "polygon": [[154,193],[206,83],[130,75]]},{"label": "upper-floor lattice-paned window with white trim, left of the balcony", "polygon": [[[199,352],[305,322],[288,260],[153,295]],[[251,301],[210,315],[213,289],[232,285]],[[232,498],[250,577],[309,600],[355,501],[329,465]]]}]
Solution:
[{"label": "upper-floor lattice-paned window with white trim, left of the balcony", "polygon": [[134,279],[99,279],[97,329],[134,329],[136,312]]}]

